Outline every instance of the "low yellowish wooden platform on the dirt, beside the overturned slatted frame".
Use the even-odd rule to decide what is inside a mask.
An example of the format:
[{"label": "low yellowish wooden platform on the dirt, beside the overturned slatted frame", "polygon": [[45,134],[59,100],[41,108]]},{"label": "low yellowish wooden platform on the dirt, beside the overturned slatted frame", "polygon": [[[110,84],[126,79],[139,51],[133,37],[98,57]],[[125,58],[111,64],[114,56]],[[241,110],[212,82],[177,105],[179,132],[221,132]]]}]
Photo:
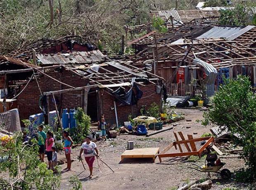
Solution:
[{"label": "low yellowish wooden platform on the dirt, beside the overturned slatted frame", "polygon": [[126,150],[121,155],[121,161],[124,158],[152,158],[155,161],[156,156],[159,154],[158,148],[135,148],[133,150]]}]

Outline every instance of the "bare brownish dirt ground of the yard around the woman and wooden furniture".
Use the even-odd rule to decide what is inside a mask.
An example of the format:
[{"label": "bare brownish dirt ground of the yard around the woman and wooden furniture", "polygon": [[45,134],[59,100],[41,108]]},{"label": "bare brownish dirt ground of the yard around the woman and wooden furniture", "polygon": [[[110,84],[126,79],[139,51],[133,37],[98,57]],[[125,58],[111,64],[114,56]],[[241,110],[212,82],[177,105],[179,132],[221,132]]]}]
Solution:
[{"label": "bare brownish dirt ground of the yard around the woman and wooden furniture", "polygon": [[[97,142],[100,156],[114,169],[114,173],[105,165],[98,164],[100,162],[96,160],[94,176],[90,180],[87,179],[86,177],[89,175],[87,165],[85,165],[86,171],[84,171],[81,162],[77,160],[80,148],[73,149],[71,157],[75,161],[72,162],[72,171],[62,174],[61,189],[71,189],[69,177],[72,175],[78,175],[84,190],[175,190],[184,183],[204,178],[205,173],[187,168],[192,166],[188,160],[181,162],[165,158],[164,162],[159,163],[157,158],[153,163],[150,159],[126,159],[120,163],[121,154],[126,150],[127,141],[134,141],[135,148],[159,147],[162,151],[175,140],[173,131],[182,131],[185,137],[187,134],[193,134],[194,138],[201,137],[204,132],[210,132],[210,126],[204,127],[196,122],[197,119],[202,119],[203,111],[197,109],[177,109],[176,111],[183,112],[185,120],[177,122],[178,125],[173,130],[161,132],[151,137],[119,135],[111,141]],[[164,127],[170,126],[166,125]],[[59,158],[64,158],[64,154],[59,153]],[[244,161],[238,158],[222,159],[222,162],[225,162],[224,167],[232,172],[244,167]],[[203,165],[204,158],[195,163]],[[66,167],[66,164],[61,165],[61,167]],[[248,184],[235,183],[232,179],[229,181],[221,180],[218,174],[212,175],[212,179],[213,190],[223,190],[225,188],[227,190],[252,189]]]}]

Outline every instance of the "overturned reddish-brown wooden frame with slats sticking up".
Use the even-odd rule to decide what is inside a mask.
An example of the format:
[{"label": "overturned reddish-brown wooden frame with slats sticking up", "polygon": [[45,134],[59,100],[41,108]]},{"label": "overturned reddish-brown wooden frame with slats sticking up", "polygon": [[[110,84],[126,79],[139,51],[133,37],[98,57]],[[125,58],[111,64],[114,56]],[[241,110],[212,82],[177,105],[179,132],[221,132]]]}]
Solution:
[{"label": "overturned reddish-brown wooden frame with slats sticking up", "polygon": [[[213,137],[202,137],[202,138],[193,139],[192,135],[187,135],[188,139],[185,139],[183,133],[178,132],[178,134],[180,135],[180,138],[181,138],[181,141],[180,141],[178,139],[177,134],[175,132],[173,132],[173,133],[174,133],[174,137],[175,137],[176,141],[169,144],[164,149],[164,151],[162,151],[158,155],[160,162],[162,162],[161,158],[165,158],[165,157],[190,156],[190,155],[198,155],[200,157],[201,153],[204,151],[204,149],[207,148],[211,144],[211,142],[213,142],[213,140],[214,140]],[[197,146],[195,145],[195,142],[200,142],[200,141],[206,141],[206,143],[197,150]],[[181,144],[185,145],[187,152],[183,152]],[[177,146],[178,146],[180,153],[166,153],[173,146],[175,147],[176,150],[177,150]]]}]

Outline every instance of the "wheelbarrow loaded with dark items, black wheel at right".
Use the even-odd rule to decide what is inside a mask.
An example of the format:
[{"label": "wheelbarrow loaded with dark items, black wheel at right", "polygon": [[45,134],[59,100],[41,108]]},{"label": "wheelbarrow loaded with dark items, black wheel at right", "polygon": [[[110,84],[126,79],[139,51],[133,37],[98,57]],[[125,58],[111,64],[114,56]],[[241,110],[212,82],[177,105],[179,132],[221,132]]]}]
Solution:
[{"label": "wheelbarrow loaded with dark items, black wheel at right", "polygon": [[[206,164],[207,161],[207,164]],[[229,169],[220,169],[225,165],[224,162],[220,162],[220,159],[217,160],[216,154],[208,154],[206,157],[205,165],[199,166],[197,164],[192,163],[192,165],[197,166],[197,168],[189,167],[192,169],[195,169],[200,172],[206,172],[207,178],[210,179],[211,175],[210,173],[220,173],[221,178],[223,179],[229,179],[231,177],[231,172]]]}]

